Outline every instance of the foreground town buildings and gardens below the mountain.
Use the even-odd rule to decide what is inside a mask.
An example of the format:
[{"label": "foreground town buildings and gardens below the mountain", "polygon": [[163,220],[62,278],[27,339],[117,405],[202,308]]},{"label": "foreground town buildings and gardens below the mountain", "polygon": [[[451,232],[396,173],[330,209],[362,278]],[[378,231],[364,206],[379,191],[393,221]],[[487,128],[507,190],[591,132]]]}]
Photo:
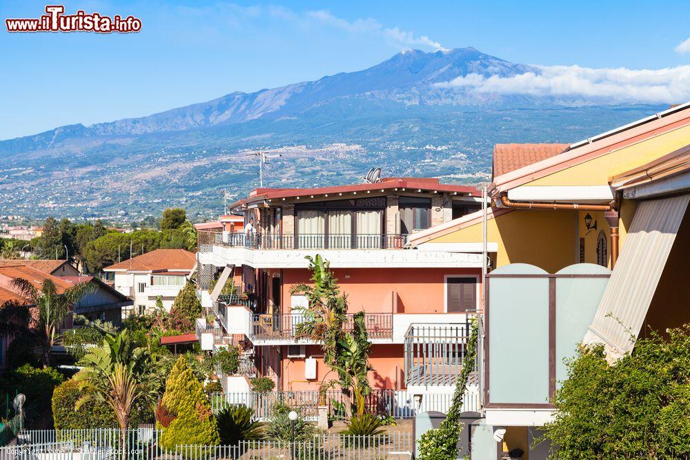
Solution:
[{"label": "foreground town buildings and gardens below the mountain", "polygon": [[491,164],[1,228],[0,459],[689,457],[690,102]]}]

